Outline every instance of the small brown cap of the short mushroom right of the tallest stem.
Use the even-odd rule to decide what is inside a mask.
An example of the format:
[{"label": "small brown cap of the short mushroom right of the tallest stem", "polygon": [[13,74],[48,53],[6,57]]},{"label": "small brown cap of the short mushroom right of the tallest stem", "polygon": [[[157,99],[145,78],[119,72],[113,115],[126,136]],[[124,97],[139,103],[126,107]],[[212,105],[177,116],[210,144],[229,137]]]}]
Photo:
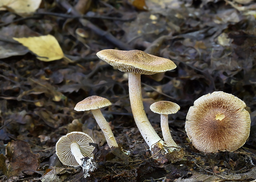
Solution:
[{"label": "small brown cap of the short mushroom right of the tallest stem", "polygon": [[151,104],[150,109],[158,114],[174,114],[180,110],[180,106],[171,101],[158,101]]}]

